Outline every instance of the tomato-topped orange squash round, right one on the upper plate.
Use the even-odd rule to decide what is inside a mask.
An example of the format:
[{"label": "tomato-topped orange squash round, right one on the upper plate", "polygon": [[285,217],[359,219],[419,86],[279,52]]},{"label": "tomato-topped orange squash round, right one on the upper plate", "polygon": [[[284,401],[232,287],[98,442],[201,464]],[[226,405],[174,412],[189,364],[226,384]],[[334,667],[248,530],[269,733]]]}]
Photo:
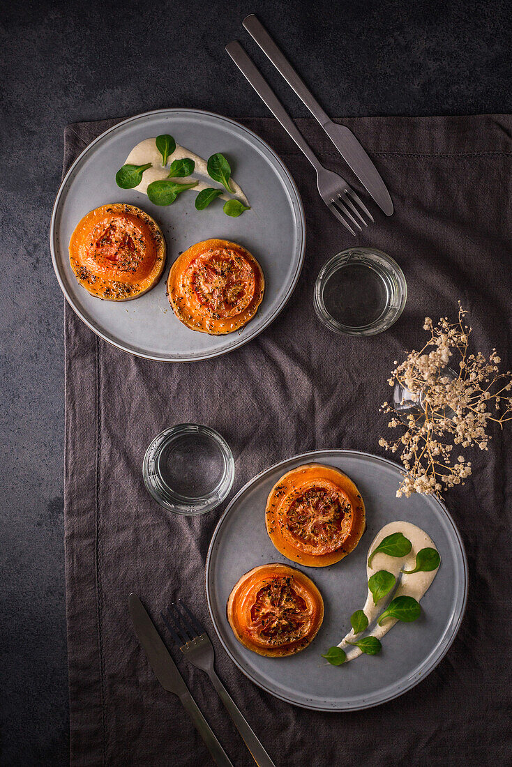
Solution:
[{"label": "tomato-topped orange squash round, right one on the upper plate", "polygon": [[197,242],[170,268],[167,295],[187,328],[223,335],[243,328],[263,300],[265,278],[256,258],[228,240]]}]

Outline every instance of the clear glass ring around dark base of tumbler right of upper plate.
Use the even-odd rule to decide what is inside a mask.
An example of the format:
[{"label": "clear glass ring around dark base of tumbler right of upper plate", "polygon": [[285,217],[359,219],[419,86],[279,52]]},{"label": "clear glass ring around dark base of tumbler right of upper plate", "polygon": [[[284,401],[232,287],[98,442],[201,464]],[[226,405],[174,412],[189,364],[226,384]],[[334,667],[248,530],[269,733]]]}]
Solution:
[{"label": "clear glass ring around dark base of tumbler right of upper plate", "polygon": [[[358,256],[368,258],[368,256],[372,255],[376,256],[379,262],[385,262],[385,267],[388,268],[388,272],[391,272],[391,275],[393,278],[395,278],[395,296],[391,298],[391,306],[388,307],[387,311],[385,311],[385,314],[381,314],[380,317],[378,317],[370,324],[362,325],[360,328],[351,328],[350,326],[344,325],[338,320],[335,320],[335,318],[332,317],[332,314],[329,314],[329,311],[327,311],[327,308],[325,308],[323,291],[325,289],[325,285],[332,277],[332,275],[334,275],[335,272],[337,272],[339,268],[341,268],[342,265],[348,261],[349,258],[355,257],[357,259]],[[395,259],[391,258],[391,255],[388,255],[388,253],[385,253],[384,251],[377,248],[354,247],[347,248],[340,251],[339,253],[336,253],[336,255],[333,255],[332,258],[329,258],[329,261],[325,262],[325,264],[322,266],[315,281],[315,288],[313,291],[313,307],[315,309],[316,316],[319,318],[319,321],[321,321],[325,328],[328,328],[330,331],[333,331],[339,335],[370,336],[382,333],[383,331],[391,328],[391,325],[395,324],[402,311],[404,311],[405,304],[407,302],[407,296],[407,281],[405,280],[404,272],[402,271],[401,266],[398,265],[398,263],[395,261]],[[396,301],[397,304],[395,306],[393,306],[394,301]]]}]

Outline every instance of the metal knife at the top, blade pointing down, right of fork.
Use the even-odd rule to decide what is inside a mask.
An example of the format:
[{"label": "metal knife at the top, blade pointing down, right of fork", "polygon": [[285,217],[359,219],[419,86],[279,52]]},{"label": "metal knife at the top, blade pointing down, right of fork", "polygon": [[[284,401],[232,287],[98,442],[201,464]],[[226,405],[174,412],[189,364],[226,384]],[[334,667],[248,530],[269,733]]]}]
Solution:
[{"label": "metal knife at the top, blade pointing down, right of fork", "polygon": [[325,133],[327,133],[336,149],[342,155],[345,163],[352,168],[352,171],[368,189],[373,199],[375,199],[377,205],[382,208],[386,216],[391,216],[393,202],[389,196],[388,189],[372,160],[370,160],[368,154],[355,138],[352,130],[349,130],[345,125],[333,123],[329,116],[325,114],[318,101],[309,91],[306,83],[299,77],[288,59],[279,51],[276,43],[256,15],[252,13],[244,18],[242,23],[249,32],[249,35],[259,45],[259,48],[272,61],[277,71],[282,74],[282,77],[291,85],[297,96],[306,104],[315,120],[318,120]]}]

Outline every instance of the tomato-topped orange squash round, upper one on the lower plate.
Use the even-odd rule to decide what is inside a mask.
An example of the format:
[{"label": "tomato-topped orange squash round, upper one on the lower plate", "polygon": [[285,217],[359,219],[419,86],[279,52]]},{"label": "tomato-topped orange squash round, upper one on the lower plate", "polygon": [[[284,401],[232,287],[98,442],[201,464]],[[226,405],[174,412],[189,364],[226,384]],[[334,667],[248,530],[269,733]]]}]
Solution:
[{"label": "tomato-topped orange squash round, upper one on the lower plate", "polygon": [[365,504],[352,479],[308,463],[279,479],[266,502],[266,531],[286,558],[322,568],[350,554],[365,532]]}]

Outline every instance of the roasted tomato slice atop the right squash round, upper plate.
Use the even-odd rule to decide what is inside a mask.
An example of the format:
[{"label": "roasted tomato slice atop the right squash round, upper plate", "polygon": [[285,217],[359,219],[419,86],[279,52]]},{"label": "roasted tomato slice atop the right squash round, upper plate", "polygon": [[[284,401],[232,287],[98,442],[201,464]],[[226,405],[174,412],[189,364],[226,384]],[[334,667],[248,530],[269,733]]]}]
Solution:
[{"label": "roasted tomato slice atop the right squash round, upper plate", "polygon": [[197,300],[211,314],[233,317],[253,301],[256,275],[241,253],[226,249],[206,251],[194,258],[187,271]]}]

